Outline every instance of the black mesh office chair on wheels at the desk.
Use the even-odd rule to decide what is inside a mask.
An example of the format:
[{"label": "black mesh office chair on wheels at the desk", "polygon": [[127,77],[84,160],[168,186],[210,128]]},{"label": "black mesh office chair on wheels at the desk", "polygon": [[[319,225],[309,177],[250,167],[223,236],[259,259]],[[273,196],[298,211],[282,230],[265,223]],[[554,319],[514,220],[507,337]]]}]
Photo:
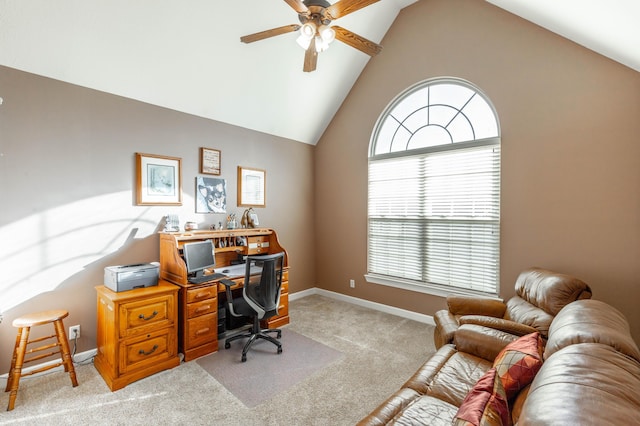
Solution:
[{"label": "black mesh office chair on wheels at the desk", "polygon": [[[251,263],[254,261],[257,266],[262,267],[262,272],[260,275],[251,276]],[[279,339],[282,337],[282,331],[279,329],[261,329],[260,320],[278,315],[284,252],[247,256],[246,262],[242,297],[233,298],[231,287],[236,284],[235,282],[227,279],[220,280],[226,287],[229,313],[234,317],[253,317],[251,332],[229,337],[224,342],[225,349],[229,349],[232,341],[249,338],[244,348],[242,348],[242,362],[247,360],[249,347],[258,339],[268,340],[278,347],[278,353],[282,353],[282,343],[267,334],[275,333]]]}]

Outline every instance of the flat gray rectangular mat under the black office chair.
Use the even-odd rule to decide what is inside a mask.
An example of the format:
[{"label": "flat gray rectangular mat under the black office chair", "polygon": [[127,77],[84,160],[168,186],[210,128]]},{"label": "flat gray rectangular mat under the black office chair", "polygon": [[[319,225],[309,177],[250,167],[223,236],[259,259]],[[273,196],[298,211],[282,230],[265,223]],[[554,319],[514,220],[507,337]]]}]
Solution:
[{"label": "flat gray rectangular mat under the black office chair", "polygon": [[218,352],[196,362],[222,383],[247,407],[255,407],[290,388],[316,371],[340,359],[343,354],[329,346],[283,328],[282,353],[271,342],[256,341],[241,362],[245,339],[231,342],[229,349],[220,341]]}]

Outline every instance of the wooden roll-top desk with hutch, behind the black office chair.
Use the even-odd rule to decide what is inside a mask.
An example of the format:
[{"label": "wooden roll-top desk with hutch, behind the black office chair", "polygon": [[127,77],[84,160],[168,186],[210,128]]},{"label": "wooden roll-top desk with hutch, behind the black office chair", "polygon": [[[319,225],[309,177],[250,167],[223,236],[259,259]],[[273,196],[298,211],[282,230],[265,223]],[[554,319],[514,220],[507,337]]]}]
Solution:
[{"label": "wooden roll-top desk with hutch, behind the black office chair", "polygon": [[[178,350],[185,361],[218,350],[218,304],[223,302],[225,286],[217,281],[191,284],[187,281],[187,267],[182,256],[185,243],[211,240],[216,269],[236,262],[239,256],[285,252],[282,290],[278,316],[270,318],[262,327],[278,328],[289,323],[289,256],[280,245],[273,229],[224,229],[160,233],[160,278],[180,287],[178,292]],[[244,276],[230,276],[233,290],[242,288]]]}]

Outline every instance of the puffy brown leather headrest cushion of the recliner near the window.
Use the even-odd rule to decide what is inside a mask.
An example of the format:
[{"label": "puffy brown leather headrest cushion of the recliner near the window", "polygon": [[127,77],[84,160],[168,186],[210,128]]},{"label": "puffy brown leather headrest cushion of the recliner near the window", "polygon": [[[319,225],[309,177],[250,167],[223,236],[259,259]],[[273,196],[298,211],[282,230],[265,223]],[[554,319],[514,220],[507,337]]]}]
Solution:
[{"label": "puffy brown leather headrest cushion of the recliner near the window", "polygon": [[515,289],[520,298],[552,316],[571,302],[591,298],[591,289],[582,280],[540,268],[522,272],[516,280]]}]

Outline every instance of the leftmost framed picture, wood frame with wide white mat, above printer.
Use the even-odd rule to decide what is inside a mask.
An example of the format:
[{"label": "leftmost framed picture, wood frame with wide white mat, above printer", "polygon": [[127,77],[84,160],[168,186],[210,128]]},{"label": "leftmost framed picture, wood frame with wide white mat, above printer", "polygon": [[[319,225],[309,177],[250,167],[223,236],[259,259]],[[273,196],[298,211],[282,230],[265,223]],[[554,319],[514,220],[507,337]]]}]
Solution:
[{"label": "leftmost framed picture, wood frame with wide white mat, above printer", "polygon": [[181,206],[182,159],[136,153],[136,204]]}]

